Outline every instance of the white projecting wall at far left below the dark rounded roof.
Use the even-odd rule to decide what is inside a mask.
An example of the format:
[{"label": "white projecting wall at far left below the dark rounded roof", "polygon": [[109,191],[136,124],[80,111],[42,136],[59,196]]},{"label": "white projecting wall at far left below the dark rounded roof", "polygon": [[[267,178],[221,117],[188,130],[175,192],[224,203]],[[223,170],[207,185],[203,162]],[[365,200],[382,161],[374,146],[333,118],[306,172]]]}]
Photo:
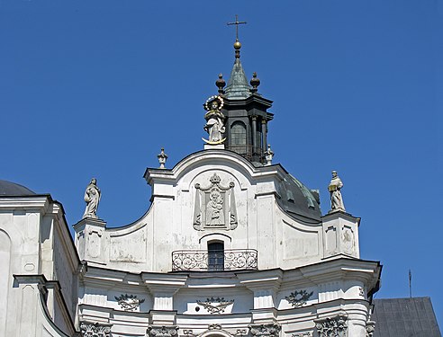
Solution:
[{"label": "white projecting wall at far left below the dark rounded roof", "polygon": [[72,336],[79,259],[49,195],[0,198],[0,336]]}]

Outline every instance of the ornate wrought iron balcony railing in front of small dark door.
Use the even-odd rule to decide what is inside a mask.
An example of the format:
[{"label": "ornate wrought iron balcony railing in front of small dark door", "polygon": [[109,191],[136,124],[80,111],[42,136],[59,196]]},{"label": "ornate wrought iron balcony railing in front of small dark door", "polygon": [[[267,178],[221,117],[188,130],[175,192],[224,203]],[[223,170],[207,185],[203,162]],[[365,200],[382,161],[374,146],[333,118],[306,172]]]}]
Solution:
[{"label": "ornate wrought iron balcony railing in front of small dark door", "polygon": [[224,251],[176,251],[172,253],[173,271],[257,270],[255,249]]}]

